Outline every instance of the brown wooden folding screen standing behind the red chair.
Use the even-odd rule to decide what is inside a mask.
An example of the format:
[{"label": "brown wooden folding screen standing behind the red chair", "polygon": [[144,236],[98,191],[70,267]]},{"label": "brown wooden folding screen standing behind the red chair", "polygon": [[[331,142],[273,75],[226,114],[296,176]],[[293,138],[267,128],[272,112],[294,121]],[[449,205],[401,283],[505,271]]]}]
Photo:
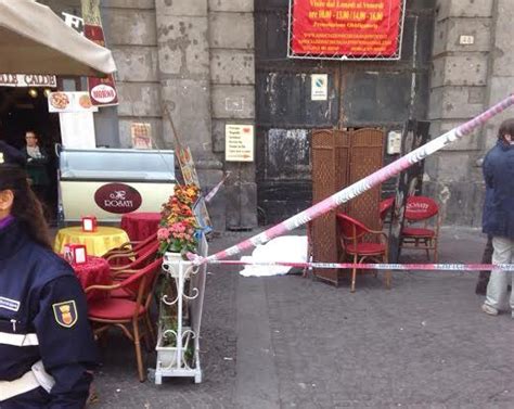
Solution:
[{"label": "brown wooden folding screen standing behind the red chair", "polygon": [[[318,203],[355,183],[383,166],[385,133],[376,128],[358,130],[321,129],[312,131],[312,201]],[[380,229],[381,187],[375,187],[337,210],[330,212],[309,226],[309,243],[314,261],[335,263],[340,257],[335,214],[344,212],[371,229]],[[321,280],[339,283],[336,269],[314,269]]]}]

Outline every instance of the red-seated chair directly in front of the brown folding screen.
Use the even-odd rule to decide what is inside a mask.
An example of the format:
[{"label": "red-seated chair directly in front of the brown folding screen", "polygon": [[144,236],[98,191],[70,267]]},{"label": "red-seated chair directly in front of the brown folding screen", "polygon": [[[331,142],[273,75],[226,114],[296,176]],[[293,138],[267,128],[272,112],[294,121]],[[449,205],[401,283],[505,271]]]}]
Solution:
[{"label": "red-seated chair directly in front of the brown folding screen", "polygon": [[[339,226],[340,245],[344,253],[352,259],[354,264],[363,263],[365,259],[387,263],[388,246],[386,233],[371,230],[359,220],[344,213],[338,213],[336,218]],[[364,241],[365,237],[377,237],[380,238],[380,243],[367,242]],[[350,287],[352,293],[356,291],[356,276],[357,267],[354,267],[351,270]],[[390,289],[390,271],[385,273],[385,283],[387,289]]]}]

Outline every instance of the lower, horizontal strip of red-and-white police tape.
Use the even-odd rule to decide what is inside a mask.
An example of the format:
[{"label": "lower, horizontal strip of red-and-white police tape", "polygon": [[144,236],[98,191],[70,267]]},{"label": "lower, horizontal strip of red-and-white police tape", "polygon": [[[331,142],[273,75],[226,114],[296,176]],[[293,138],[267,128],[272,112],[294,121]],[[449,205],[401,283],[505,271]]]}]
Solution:
[{"label": "lower, horizontal strip of red-and-white police tape", "polygon": [[208,260],[213,265],[228,266],[284,266],[295,268],[350,269],[359,270],[417,270],[417,271],[491,271],[494,269],[514,271],[514,264],[373,264],[373,263],[288,263],[288,261],[243,261]]}]

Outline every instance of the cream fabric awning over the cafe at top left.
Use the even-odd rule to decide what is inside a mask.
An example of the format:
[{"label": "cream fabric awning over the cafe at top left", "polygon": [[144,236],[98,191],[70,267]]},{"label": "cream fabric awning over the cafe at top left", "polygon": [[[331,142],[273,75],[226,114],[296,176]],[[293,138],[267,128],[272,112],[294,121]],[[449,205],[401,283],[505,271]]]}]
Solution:
[{"label": "cream fabric awning over the cafe at top left", "polygon": [[111,51],[68,27],[34,0],[0,0],[0,73],[103,76]]}]

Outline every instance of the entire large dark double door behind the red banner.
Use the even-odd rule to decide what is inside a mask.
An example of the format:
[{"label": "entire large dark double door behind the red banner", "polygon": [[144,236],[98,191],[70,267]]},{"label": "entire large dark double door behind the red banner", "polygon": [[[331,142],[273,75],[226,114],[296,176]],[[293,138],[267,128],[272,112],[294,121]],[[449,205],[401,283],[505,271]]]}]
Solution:
[{"label": "entire large dark double door behind the red banner", "polygon": [[[435,3],[407,2],[400,61],[350,62],[288,60],[290,0],[254,2],[261,222],[281,221],[312,203],[312,129],[374,127],[401,131],[407,119],[427,116]],[[329,75],[326,101],[312,101],[311,74]],[[395,158],[384,157],[386,163]],[[385,190],[393,194],[395,182]]]}]

